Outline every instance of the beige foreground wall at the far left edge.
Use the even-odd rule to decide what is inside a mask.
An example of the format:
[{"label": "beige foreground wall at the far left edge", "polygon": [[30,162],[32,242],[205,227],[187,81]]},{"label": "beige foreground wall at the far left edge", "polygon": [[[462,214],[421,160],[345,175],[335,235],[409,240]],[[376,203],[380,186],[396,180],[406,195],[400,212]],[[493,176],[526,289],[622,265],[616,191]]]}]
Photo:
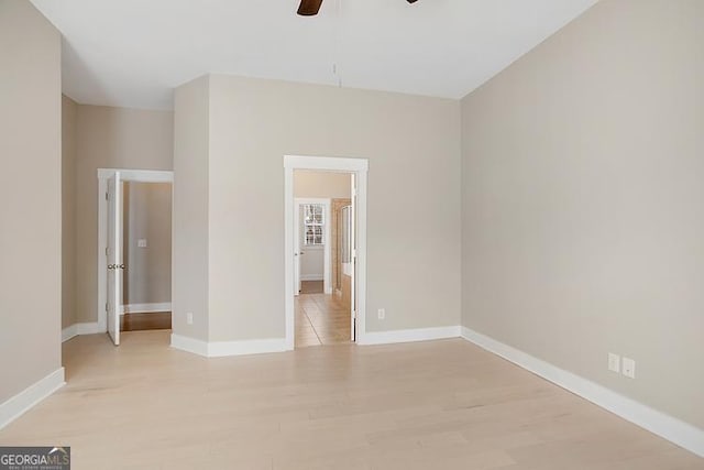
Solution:
[{"label": "beige foreground wall at the far left edge", "polygon": [[0,0],[0,404],[61,369],[61,35]]}]

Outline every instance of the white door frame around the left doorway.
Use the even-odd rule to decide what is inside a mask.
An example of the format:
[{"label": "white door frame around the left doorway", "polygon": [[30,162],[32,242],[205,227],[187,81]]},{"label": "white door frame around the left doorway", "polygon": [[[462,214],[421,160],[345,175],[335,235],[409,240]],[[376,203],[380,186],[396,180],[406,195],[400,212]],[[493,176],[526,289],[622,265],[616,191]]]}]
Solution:
[{"label": "white door frame around the left doorway", "polygon": [[[120,179],[130,183],[172,183],[172,200],[174,192],[174,172],[158,170],[122,170],[98,168],[98,332],[108,331],[108,261],[106,248],[108,247],[108,207],[106,193],[108,179],[120,172]],[[173,208],[172,208],[173,210]],[[172,228],[172,238],[174,237]]]}]

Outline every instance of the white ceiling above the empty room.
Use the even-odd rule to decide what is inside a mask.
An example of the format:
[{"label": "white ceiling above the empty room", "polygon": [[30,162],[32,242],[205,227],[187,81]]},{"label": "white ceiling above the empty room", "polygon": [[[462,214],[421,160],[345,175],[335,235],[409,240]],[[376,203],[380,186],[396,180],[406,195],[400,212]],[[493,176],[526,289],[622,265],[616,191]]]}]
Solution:
[{"label": "white ceiling above the empty room", "polygon": [[[64,92],[172,108],[206,73],[461,98],[597,0],[32,0],[64,34]],[[338,64],[338,76],[332,64]]]}]

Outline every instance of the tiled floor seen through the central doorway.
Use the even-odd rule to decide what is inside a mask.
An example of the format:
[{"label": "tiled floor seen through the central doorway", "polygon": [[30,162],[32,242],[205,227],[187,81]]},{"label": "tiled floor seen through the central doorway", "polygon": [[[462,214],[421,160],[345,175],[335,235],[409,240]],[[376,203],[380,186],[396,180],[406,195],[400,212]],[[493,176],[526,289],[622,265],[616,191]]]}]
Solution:
[{"label": "tiled floor seen through the central doorway", "polygon": [[295,297],[294,308],[296,348],[351,341],[350,306],[340,298],[326,294],[300,294]]}]

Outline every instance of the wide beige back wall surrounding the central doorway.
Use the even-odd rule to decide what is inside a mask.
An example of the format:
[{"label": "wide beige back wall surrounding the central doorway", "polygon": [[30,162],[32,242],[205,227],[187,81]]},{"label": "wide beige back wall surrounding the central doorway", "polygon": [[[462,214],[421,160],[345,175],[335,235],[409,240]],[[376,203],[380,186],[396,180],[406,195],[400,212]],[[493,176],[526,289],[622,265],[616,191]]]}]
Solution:
[{"label": "wide beige back wall surrounding the central doorway", "polygon": [[370,161],[367,330],[460,323],[458,101],[215,75],[209,117],[211,341],[285,335],[286,154]]}]

